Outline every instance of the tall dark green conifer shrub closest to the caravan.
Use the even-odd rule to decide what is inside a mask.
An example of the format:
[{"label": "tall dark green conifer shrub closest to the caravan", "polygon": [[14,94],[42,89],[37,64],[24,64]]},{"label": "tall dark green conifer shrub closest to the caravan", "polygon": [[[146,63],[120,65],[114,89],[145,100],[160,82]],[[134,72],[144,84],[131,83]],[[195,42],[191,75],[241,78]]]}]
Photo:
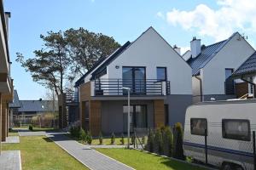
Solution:
[{"label": "tall dark green conifer shrub closest to the caravan", "polygon": [[180,122],[177,122],[173,130],[173,157],[184,159],[183,155],[183,127]]}]

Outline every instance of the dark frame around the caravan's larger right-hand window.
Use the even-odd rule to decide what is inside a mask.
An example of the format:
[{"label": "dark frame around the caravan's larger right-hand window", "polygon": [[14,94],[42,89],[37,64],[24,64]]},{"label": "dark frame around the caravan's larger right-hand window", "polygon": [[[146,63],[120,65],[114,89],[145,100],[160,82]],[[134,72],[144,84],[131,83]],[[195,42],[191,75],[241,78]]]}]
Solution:
[{"label": "dark frame around the caravan's larger right-hand window", "polygon": [[[225,133],[225,127],[224,127],[224,122],[247,122],[248,124],[248,135],[246,138],[242,138],[241,136],[235,136],[235,135],[228,135]],[[222,137],[224,139],[234,139],[234,140],[242,140],[242,141],[251,141],[251,124],[248,119],[222,119]]]}]

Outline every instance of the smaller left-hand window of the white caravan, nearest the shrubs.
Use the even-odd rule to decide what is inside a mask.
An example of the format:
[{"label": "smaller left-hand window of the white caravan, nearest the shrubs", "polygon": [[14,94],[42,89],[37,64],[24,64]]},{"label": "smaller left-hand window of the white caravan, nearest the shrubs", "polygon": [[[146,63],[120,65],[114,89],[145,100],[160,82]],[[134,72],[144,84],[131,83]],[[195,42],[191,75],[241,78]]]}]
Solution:
[{"label": "smaller left-hand window of the white caravan, nearest the shrubs", "polygon": [[207,119],[203,118],[191,118],[190,119],[191,134],[206,135]]}]

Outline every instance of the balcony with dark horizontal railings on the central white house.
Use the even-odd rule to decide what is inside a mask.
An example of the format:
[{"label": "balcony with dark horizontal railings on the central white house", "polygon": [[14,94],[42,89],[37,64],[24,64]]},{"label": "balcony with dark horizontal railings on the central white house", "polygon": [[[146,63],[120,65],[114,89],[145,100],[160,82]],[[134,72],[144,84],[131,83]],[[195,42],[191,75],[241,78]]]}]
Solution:
[{"label": "balcony with dark horizontal railings on the central white house", "polygon": [[125,96],[131,88],[131,96],[163,96],[170,94],[170,82],[156,79],[96,79],[92,96]]}]

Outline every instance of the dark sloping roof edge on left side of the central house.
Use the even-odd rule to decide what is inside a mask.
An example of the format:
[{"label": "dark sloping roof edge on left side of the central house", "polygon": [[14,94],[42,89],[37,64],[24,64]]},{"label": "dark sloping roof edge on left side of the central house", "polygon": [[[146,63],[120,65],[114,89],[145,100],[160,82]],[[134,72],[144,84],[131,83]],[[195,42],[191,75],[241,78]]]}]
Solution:
[{"label": "dark sloping roof edge on left side of the central house", "polygon": [[[122,51],[130,44],[131,42],[126,42],[123,46],[121,46],[120,48],[118,48],[117,50],[115,50],[113,52],[113,54],[110,54],[108,57],[102,57],[100,59],[98,59],[96,61],[96,63],[91,67],[91,69],[89,71],[87,71],[84,76],[80,77],[79,80],[77,82],[75,82],[75,87],[78,87],[80,84],[84,83],[84,78],[87,77],[92,71],[94,71],[96,69],[97,66],[101,65],[103,63],[104,60],[106,60],[106,62],[108,62],[108,60],[113,59],[115,57],[117,57],[119,54],[122,53]],[[104,63],[105,65],[105,63]],[[96,71],[102,71],[100,70],[102,69],[102,65],[96,69]]]}]

